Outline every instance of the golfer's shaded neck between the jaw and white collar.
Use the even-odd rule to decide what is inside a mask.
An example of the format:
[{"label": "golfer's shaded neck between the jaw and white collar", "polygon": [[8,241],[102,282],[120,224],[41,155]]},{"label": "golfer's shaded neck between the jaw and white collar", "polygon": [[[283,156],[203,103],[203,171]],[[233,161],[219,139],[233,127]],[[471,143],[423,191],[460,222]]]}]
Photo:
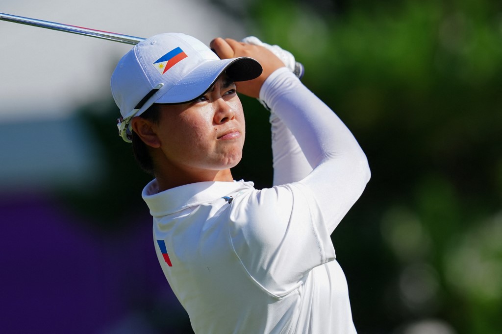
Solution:
[{"label": "golfer's shaded neck between the jaw and white collar", "polygon": [[157,184],[159,185],[159,192],[196,182],[233,182],[230,169],[221,171],[159,171],[155,173],[155,178],[157,179]]}]

